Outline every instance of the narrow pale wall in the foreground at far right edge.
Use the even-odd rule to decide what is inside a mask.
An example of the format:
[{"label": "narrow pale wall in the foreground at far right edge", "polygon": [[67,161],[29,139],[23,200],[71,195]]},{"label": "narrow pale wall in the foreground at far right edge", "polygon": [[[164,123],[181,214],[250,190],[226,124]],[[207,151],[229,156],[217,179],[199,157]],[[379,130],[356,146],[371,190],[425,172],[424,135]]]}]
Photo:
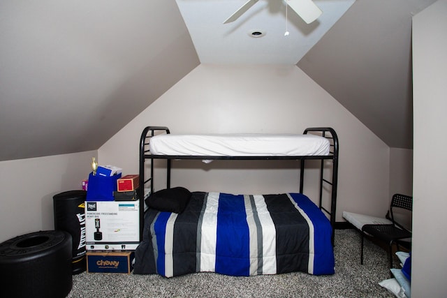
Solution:
[{"label": "narrow pale wall in the foreground at far right edge", "polygon": [[413,17],[411,297],[447,297],[447,1]]}]

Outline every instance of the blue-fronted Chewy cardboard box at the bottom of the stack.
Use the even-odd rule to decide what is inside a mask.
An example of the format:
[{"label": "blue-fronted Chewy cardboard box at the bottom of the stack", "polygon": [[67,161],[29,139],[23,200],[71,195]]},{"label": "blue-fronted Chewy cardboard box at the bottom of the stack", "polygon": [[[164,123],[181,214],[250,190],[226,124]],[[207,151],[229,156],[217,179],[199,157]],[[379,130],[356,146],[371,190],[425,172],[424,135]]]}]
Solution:
[{"label": "blue-fronted Chewy cardboard box at the bottom of the stack", "polygon": [[133,251],[87,251],[87,273],[126,273],[133,269]]}]

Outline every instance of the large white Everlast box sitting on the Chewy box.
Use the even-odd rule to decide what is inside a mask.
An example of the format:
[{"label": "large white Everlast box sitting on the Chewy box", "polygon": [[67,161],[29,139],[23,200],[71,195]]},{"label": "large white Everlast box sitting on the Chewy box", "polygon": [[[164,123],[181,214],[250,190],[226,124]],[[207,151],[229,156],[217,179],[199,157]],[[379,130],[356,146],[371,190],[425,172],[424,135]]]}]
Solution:
[{"label": "large white Everlast box sitting on the Chewy box", "polygon": [[87,251],[133,251],[140,244],[140,202],[85,202]]}]

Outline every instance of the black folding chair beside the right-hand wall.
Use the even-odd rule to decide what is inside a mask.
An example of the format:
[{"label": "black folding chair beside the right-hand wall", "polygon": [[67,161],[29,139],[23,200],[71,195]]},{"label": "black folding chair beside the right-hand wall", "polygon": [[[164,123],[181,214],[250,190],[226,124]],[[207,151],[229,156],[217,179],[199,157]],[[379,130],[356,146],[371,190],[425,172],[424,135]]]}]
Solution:
[{"label": "black folding chair beside the right-hand wall", "polygon": [[[393,268],[393,244],[396,244],[397,250],[399,250],[399,242],[401,239],[411,238],[411,232],[406,230],[400,223],[395,221],[393,215],[393,209],[402,208],[409,211],[413,211],[413,198],[408,195],[393,195],[390,206],[390,221],[392,224],[372,224],[363,225],[362,227],[362,251],[360,253],[360,263],[363,264],[363,238],[365,235],[379,239],[380,241],[386,242],[389,246],[390,255],[390,268]],[[388,217],[388,214],[387,214]]]}]

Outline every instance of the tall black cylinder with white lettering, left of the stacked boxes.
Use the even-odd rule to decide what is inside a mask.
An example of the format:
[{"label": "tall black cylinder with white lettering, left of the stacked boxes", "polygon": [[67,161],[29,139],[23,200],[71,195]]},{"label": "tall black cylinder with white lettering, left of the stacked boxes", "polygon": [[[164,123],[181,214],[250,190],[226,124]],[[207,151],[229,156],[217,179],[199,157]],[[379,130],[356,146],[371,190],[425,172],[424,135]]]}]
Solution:
[{"label": "tall black cylinder with white lettering, left of the stacked boxes", "polygon": [[71,234],[73,274],[87,269],[85,256],[85,198],[87,191],[66,191],[54,195],[54,229]]}]

